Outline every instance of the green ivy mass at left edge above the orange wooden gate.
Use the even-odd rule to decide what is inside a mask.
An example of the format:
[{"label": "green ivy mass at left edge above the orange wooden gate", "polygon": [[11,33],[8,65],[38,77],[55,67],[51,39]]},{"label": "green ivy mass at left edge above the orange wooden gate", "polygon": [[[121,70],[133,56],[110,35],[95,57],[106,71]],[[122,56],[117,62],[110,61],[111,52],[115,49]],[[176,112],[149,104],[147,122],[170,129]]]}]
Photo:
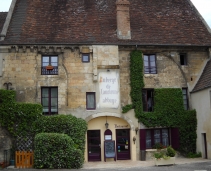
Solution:
[{"label": "green ivy mass at left edge above the orange wooden gate", "polygon": [[0,90],[0,124],[13,137],[32,134],[32,123],[41,116],[40,104],[16,103],[15,91]]}]

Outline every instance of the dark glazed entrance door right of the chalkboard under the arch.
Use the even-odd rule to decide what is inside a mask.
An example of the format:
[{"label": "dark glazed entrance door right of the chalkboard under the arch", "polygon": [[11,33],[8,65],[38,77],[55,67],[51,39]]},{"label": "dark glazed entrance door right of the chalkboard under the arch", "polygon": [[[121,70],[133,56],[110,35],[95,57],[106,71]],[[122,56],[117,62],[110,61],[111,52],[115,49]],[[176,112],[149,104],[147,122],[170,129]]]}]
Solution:
[{"label": "dark glazed entrance door right of the chalkboard under the arch", "polygon": [[129,129],[116,130],[116,151],[117,151],[117,160],[130,159],[130,130]]}]

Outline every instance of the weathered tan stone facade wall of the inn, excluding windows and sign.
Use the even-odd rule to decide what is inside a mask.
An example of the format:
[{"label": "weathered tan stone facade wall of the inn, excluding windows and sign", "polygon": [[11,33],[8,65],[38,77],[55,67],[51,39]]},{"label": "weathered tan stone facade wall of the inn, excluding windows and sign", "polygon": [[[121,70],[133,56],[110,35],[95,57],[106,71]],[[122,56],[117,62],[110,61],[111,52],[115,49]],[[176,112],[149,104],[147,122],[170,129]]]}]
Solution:
[{"label": "weathered tan stone facade wall of the inn, excluding windows and sign", "polygon": [[[41,87],[58,87],[58,113],[72,114],[89,122],[99,117],[117,117],[130,125],[131,141],[138,124],[131,110],[121,113],[121,108],[131,104],[130,98],[130,52],[134,47],[124,46],[78,46],[78,47],[8,47],[1,56],[3,83],[11,82],[11,89],[17,92],[17,101],[41,103]],[[138,47],[144,54],[156,54],[157,74],[145,74],[145,88],[183,88],[189,91],[197,81],[201,68],[208,59],[203,48],[152,48]],[[3,52],[3,50],[2,50]],[[82,53],[90,54],[90,62],[82,62]],[[187,53],[188,65],[180,65],[180,53]],[[58,55],[58,75],[41,75],[42,55]],[[174,54],[174,55],[171,55]],[[119,75],[119,100],[117,108],[99,106],[99,74],[112,72]],[[86,109],[86,92],[96,93],[96,109]],[[103,120],[101,119],[101,122]],[[122,123],[122,121],[120,122]],[[93,125],[89,125],[90,128]],[[115,129],[114,129],[115,131]],[[139,160],[139,138],[131,143],[131,159]],[[85,153],[88,153],[87,149]],[[87,161],[87,154],[85,160]]]}]

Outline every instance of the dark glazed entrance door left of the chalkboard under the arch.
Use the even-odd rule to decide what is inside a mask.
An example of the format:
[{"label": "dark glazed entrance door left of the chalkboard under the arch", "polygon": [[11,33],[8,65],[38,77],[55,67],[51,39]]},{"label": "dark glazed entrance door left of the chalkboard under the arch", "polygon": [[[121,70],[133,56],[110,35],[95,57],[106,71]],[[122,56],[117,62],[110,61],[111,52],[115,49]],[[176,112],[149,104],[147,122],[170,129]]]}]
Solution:
[{"label": "dark glazed entrance door left of the chalkboard under the arch", "polygon": [[87,131],[88,161],[101,161],[100,130]]}]

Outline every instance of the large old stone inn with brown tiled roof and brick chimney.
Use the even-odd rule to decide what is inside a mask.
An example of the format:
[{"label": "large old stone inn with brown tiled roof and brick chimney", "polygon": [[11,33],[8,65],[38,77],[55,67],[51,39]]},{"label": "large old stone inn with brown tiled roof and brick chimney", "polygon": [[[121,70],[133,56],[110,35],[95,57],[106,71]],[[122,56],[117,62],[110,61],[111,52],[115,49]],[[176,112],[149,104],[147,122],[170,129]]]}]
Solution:
[{"label": "large old stone inn with brown tiled roof and brick chimney", "polygon": [[[190,0],[13,0],[1,32],[0,88],[12,83],[17,101],[41,103],[45,115],[85,119],[85,161],[103,161],[110,139],[117,160],[139,160],[136,128],[145,126],[133,110],[122,114],[131,104],[130,52],[144,54],[146,100],[153,88],[181,88],[191,109],[209,48],[210,29]],[[148,131],[172,143],[170,128]]]}]

